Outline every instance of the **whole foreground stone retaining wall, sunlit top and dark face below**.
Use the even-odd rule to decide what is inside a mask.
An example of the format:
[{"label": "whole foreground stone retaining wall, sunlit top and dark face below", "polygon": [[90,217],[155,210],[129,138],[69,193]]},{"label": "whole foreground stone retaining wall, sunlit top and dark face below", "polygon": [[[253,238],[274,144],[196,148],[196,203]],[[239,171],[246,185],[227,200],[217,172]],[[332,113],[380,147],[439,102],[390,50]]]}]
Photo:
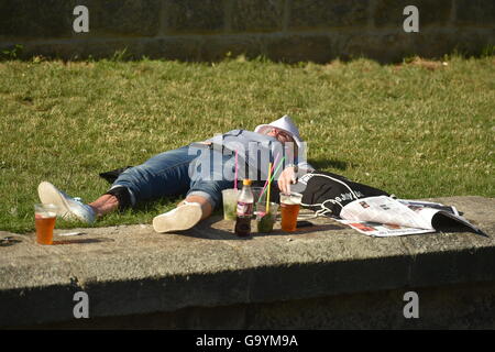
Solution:
[{"label": "whole foreground stone retaining wall, sunlit top and dark face below", "polygon": [[495,199],[428,200],[487,235],[371,238],[318,218],[240,239],[219,216],[176,234],[57,229],[54,245],[0,231],[14,239],[0,245],[0,329],[494,329]]}]

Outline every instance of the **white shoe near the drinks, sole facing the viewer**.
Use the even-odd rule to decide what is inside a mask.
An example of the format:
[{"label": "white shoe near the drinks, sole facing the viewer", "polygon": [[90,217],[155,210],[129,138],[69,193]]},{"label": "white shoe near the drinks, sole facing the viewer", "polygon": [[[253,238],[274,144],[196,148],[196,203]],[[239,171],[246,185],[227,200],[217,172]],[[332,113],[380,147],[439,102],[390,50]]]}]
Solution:
[{"label": "white shoe near the drinks, sole facing the viewer", "polygon": [[202,210],[198,202],[186,202],[153,219],[156,232],[184,231],[193,228],[201,220]]}]

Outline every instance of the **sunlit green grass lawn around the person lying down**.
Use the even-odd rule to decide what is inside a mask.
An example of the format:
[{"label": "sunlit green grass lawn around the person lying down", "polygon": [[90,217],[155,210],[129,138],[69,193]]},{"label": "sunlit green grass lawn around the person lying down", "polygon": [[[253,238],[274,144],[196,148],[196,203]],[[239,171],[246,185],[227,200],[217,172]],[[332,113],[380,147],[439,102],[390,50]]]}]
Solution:
[{"label": "sunlit green grass lawn around the person lying down", "polygon": [[[90,201],[108,189],[100,172],[285,113],[318,168],[403,198],[495,195],[493,56],[388,66],[10,61],[0,62],[0,230],[34,229],[42,180]],[[150,223],[176,200],[96,226]]]}]

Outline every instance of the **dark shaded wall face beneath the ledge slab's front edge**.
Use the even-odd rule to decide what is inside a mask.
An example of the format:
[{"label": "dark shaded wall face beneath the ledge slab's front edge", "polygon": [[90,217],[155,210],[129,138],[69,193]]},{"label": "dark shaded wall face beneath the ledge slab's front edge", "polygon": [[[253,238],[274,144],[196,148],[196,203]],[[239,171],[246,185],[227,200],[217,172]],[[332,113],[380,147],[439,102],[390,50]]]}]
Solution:
[{"label": "dark shaded wall face beneath the ledge slab's front edge", "polygon": [[[406,319],[404,294],[416,292],[419,319]],[[78,319],[43,329],[495,329],[495,284],[408,287],[297,301],[190,307],[170,312]],[[300,341],[299,341],[300,342]]]}]

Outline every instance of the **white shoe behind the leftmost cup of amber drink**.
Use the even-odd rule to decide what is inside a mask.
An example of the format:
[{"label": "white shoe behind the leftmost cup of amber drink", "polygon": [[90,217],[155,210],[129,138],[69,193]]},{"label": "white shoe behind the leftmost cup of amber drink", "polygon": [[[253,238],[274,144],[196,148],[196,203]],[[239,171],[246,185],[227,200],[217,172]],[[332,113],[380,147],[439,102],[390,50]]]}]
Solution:
[{"label": "white shoe behind the leftmost cup of amber drink", "polygon": [[42,204],[53,204],[58,207],[57,216],[66,220],[80,220],[86,223],[94,223],[95,211],[88,205],[82,204],[77,198],[67,196],[62,190],[47,182],[42,182],[37,186],[37,195]]}]

